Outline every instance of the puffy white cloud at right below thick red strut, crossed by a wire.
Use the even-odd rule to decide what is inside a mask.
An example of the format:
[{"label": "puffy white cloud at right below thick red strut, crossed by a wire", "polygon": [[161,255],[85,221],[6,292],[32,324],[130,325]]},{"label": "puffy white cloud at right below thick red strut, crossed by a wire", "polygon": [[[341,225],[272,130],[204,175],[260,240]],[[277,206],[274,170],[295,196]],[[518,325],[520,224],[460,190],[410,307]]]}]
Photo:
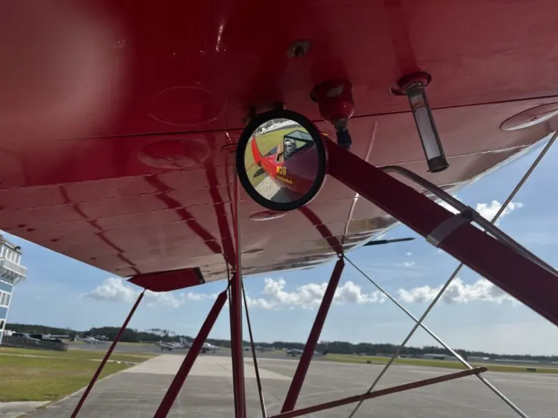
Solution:
[{"label": "puffy white cloud at right below thick red strut, crossed by a wire", "polygon": [[[441,288],[442,285],[437,287],[421,286],[409,291],[400,288],[398,293],[400,300],[403,302],[425,303],[432,302]],[[453,279],[440,299],[446,303],[483,301],[500,304],[506,300],[517,302],[514,297],[486,279],[479,278],[474,284],[464,284],[459,277]]]}]

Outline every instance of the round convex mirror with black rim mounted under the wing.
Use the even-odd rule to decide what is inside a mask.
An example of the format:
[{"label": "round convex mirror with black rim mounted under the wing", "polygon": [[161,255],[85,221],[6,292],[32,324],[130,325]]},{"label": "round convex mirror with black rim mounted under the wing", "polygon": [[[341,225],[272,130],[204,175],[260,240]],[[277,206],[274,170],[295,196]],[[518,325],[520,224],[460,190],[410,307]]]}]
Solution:
[{"label": "round convex mirror with black rim mounted under the wing", "polygon": [[326,151],[304,116],[272,110],[250,121],[236,148],[239,180],[252,199],[276,211],[311,201],[324,183]]}]

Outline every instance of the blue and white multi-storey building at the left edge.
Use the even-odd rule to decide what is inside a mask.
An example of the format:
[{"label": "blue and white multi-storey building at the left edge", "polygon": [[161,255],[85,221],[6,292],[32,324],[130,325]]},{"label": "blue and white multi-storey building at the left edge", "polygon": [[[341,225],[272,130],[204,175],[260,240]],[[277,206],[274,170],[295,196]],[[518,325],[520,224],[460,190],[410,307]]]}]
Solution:
[{"label": "blue and white multi-storey building at the left edge", "polygon": [[21,265],[22,249],[0,235],[0,344],[13,295],[13,286],[25,279],[27,268]]}]

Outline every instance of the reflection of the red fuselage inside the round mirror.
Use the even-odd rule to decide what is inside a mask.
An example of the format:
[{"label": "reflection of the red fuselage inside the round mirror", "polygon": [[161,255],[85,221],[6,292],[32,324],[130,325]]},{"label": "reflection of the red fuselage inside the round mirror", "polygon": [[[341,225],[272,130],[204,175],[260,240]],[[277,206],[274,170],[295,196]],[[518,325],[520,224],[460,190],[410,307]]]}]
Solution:
[{"label": "reflection of the red fuselage inside the round mirror", "polygon": [[283,160],[278,159],[277,153],[262,156],[254,137],[251,142],[255,163],[264,169],[274,183],[296,194],[297,199],[308,192],[314,183],[318,169],[318,158],[313,144],[308,148],[297,150],[287,157],[287,160]]}]

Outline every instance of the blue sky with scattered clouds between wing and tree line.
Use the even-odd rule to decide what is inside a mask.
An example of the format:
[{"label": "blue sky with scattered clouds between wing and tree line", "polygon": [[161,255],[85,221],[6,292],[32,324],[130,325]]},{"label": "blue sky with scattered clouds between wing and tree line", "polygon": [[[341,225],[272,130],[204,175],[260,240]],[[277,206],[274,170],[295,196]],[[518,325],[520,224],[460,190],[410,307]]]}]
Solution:
[{"label": "blue sky with scattered clouds between wing and tree line", "polygon": [[[518,183],[544,144],[506,167],[460,190],[458,199],[491,217]],[[558,208],[555,167],[558,147],[553,147],[513,199],[499,226],[551,265],[558,265]],[[86,330],[119,326],[139,291],[125,281],[89,265],[6,234],[21,245],[27,280],[17,285],[8,321]],[[349,258],[386,288],[407,309],[420,316],[458,262],[421,237],[398,226],[386,238],[417,237],[411,242],[365,247]],[[257,341],[306,341],[333,262],[312,270],[278,272],[246,278],[252,327]],[[464,268],[451,293],[425,320],[454,348],[495,353],[558,355],[558,328],[519,304],[478,274]],[[527,279],[527,278],[526,278]],[[529,280],[536,281],[532,278]],[[138,309],[131,327],[166,328],[194,336],[223,281],[190,291],[149,295]],[[340,340],[400,343],[414,325],[389,300],[384,300],[367,279],[345,266],[340,288],[322,332],[326,341]],[[245,327],[246,330],[246,327]],[[225,309],[211,333],[229,338]],[[245,339],[248,334],[245,331]],[[409,345],[434,345],[418,330]]]}]

